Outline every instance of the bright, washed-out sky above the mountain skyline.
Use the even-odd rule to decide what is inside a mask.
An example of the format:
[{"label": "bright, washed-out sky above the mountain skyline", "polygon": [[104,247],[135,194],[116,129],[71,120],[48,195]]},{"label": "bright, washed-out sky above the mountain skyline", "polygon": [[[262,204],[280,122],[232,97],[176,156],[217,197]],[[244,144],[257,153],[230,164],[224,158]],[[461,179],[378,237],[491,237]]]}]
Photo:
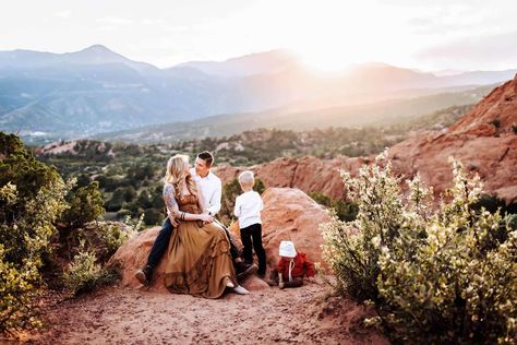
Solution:
[{"label": "bright, washed-out sky above the mountain skyline", "polygon": [[324,71],[517,68],[516,0],[11,0],[0,33],[0,50],[99,44],[159,68],[272,49]]}]

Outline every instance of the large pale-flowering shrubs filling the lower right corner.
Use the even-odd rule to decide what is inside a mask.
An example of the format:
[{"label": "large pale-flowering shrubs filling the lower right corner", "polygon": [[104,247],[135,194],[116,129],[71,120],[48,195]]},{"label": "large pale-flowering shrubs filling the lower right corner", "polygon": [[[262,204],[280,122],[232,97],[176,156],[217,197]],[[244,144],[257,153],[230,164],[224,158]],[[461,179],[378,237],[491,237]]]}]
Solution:
[{"label": "large pale-flowering shrubs filling the lower right corner", "polygon": [[[354,222],[323,227],[324,257],[340,293],[371,302],[395,343],[493,344],[517,336],[514,215],[479,206],[478,178],[454,163],[454,187],[434,209],[417,176],[404,195],[381,155],[357,178]],[[476,205],[476,206],[474,206]]]}]

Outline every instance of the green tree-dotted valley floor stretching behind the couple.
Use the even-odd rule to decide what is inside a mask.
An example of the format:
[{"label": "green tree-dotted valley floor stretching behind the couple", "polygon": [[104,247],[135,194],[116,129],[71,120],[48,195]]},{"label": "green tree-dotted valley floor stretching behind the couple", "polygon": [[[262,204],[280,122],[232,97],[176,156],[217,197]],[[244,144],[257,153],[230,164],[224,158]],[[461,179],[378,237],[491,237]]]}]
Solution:
[{"label": "green tree-dotted valley floor stretching behind the couple", "polygon": [[[107,219],[121,221],[128,216],[136,219],[144,215],[145,225],[157,225],[165,217],[161,198],[165,164],[177,153],[189,154],[193,160],[199,152],[207,150],[215,153],[216,164],[235,166],[262,164],[279,157],[372,155],[405,140],[411,132],[443,129],[469,108],[450,107],[384,128],[328,128],[303,132],[262,129],[225,138],[149,145],[83,140],[76,142],[73,152],[43,154],[39,159],[55,165],[64,178],[76,178],[77,188],[97,181]],[[353,207],[345,201],[332,202],[338,214],[353,216]]]}]

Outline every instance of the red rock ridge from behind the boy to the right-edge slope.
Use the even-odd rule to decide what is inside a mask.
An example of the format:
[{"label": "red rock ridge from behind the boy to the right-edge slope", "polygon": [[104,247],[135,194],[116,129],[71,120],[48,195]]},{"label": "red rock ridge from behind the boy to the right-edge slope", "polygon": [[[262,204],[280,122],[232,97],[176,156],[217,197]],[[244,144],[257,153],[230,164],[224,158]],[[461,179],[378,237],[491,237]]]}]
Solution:
[{"label": "red rock ridge from behind the boy to the right-edge slope", "polygon": [[[517,202],[517,76],[496,87],[465,117],[441,132],[420,133],[388,151],[396,174],[410,178],[420,172],[437,194],[452,186],[453,169],[448,157],[461,160],[476,171],[488,193],[506,203]],[[299,188],[305,193],[322,192],[333,199],[342,195],[339,170],[354,176],[370,158],[317,159],[278,158],[249,169],[266,187]],[[221,166],[217,175],[229,182],[244,167]]]}]

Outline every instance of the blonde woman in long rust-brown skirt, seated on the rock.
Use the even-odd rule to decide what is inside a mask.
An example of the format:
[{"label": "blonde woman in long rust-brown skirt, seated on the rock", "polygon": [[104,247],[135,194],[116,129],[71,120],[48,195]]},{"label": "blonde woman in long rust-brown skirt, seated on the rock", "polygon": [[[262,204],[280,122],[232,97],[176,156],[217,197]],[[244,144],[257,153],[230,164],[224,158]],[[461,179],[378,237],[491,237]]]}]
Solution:
[{"label": "blonde woman in long rust-brown skirt, seated on the rock", "polygon": [[179,225],[169,242],[165,284],[172,293],[205,298],[218,298],[227,287],[248,294],[237,283],[228,238],[203,212],[203,194],[189,170],[185,155],[176,155],[167,163],[164,200],[169,217]]}]

